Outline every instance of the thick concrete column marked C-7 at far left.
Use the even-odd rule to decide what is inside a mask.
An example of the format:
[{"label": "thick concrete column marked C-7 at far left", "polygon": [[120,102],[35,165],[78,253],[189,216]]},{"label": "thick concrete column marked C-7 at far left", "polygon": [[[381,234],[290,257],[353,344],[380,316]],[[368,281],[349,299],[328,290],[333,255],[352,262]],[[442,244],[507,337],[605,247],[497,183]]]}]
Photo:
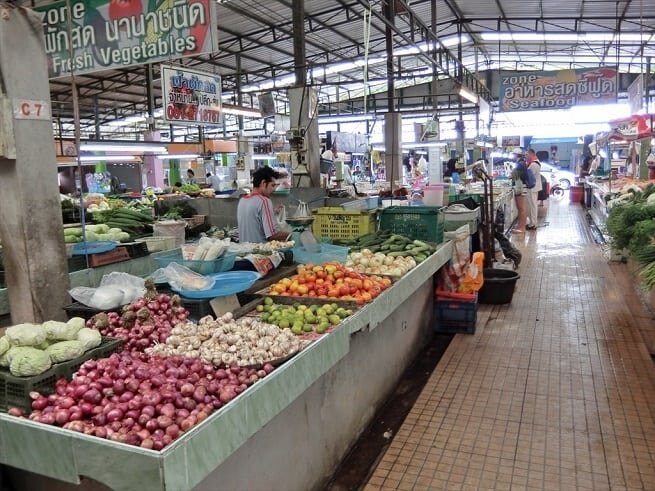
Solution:
[{"label": "thick concrete column marked C-7 at far left", "polygon": [[[26,62],[29,60],[29,62]],[[0,5],[0,237],[13,323],[70,303],[40,17]]]}]

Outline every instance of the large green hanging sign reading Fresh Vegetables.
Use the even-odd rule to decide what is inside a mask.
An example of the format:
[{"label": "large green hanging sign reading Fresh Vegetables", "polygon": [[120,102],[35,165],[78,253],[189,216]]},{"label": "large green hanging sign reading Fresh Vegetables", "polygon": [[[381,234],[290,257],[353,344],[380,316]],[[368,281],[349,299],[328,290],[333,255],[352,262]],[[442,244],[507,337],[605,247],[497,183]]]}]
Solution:
[{"label": "large green hanging sign reading Fresh Vegetables", "polygon": [[[67,6],[69,3],[70,7]],[[50,78],[216,51],[212,0],[70,0],[43,13]]]}]

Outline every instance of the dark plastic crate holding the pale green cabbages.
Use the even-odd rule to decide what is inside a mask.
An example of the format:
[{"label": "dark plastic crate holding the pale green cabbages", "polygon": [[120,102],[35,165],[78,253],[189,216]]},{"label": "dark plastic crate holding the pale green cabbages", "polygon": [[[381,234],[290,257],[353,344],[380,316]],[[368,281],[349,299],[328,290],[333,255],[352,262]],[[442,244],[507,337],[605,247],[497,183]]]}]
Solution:
[{"label": "dark plastic crate holding the pale green cabbages", "polygon": [[30,392],[43,395],[54,392],[55,382],[60,378],[71,379],[82,363],[91,359],[106,358],[120,348],[120,339],[103,337],[102,343],[74,360],[53,365],[49,370],[34,377],[15,377],[9,370],[0,369],[0,411],[18,407],[26,412],[32,410]]}]

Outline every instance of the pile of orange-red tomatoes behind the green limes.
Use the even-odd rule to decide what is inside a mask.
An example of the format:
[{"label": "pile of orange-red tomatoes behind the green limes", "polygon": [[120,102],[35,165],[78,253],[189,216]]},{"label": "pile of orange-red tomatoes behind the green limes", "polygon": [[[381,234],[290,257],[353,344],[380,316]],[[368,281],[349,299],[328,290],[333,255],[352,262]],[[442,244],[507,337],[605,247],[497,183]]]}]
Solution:
[{"label": "pile of orange-red tomatoes behind the green limes", "polygon": [[301,264],[297,273],[270,287],[271,295],[349,300],[364,304],[391,286],[389,278],[364,275],[333,261],[323,265]]}]

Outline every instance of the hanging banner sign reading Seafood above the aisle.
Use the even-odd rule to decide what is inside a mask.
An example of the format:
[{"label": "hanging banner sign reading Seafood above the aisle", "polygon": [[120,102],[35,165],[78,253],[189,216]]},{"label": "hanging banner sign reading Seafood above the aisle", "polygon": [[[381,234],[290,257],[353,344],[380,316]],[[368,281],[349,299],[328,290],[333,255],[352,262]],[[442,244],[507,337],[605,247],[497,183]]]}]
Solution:
[{"label": "hanging banner sign reading Seafood above the aisle", "polygon": [[565,109],[616,102],[616,68],[557,72],[504,72],[500,76],[500,111]]}]

